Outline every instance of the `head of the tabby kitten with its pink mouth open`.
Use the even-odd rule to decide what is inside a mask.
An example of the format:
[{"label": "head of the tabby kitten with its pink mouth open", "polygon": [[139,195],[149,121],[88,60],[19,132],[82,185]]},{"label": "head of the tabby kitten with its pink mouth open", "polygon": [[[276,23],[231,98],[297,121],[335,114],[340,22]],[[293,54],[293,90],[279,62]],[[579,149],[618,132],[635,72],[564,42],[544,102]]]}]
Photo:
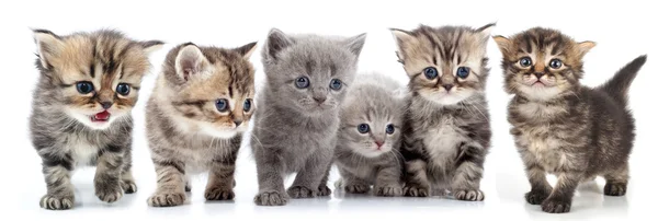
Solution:
[{"label": "head of the tabby kitten with its pink mouth open", "polygon": [[115,31],[58,36],[35,30],[36,61],[49,103],[92,129],[106,129],[129,116],[148,55],[159,40],[136,42]]}]

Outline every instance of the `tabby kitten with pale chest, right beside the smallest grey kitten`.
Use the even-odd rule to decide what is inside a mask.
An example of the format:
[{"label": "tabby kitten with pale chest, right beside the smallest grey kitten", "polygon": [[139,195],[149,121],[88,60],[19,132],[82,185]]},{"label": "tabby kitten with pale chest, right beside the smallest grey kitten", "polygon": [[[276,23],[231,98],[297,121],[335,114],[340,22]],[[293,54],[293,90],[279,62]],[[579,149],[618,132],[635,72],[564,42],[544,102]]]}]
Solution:
[{"label": "tabby kitten with pale chest, right beside the smallest grey kitten", "polygon": [[405,195],[450,190],[456,199],[479,201],[491,131],[485,97],[486,47],[494,24],[392,30],[399,61],[410,78],[401,153]]}]

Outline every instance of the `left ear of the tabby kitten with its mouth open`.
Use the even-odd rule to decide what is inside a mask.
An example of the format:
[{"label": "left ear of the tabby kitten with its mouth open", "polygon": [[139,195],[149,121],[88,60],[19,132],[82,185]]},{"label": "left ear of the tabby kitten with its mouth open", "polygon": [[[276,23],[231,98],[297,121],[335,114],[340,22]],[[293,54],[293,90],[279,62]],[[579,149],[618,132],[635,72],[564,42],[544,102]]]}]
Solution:
[{"label": "left ear of the tabby kitten with its mouth open", "polygon": [[54,59],[64,47],[64,42],[61,40],[61,37],[47,30],[34,30],[33,32],[38,59],[42,67],[48,70],[53,67],[50,63],[52,59]]}]

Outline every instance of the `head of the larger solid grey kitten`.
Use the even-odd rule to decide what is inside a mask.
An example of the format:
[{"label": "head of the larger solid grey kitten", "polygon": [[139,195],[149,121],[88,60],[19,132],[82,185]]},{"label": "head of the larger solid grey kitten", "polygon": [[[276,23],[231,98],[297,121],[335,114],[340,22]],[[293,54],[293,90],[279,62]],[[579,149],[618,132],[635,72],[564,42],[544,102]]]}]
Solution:
[{"label": "head of the larger solid grey kitten", "polygon": [[274,28],[262,51],[273,105],[317,116],[338,107],[356,71],[365,34],[345,39],[288,36]]}]

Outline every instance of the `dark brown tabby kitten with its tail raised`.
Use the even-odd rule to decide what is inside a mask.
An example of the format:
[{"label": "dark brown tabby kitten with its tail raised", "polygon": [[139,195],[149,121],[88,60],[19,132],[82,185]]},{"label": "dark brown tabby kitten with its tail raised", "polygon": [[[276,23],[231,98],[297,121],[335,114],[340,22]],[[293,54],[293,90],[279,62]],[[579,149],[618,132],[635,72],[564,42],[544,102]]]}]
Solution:
[{"label": "dark brown tabby kitten with its tail raised", "polygon": [[[605,177],[605,195],[623,196],[635,137],[626,96],[646,56],[591,89],[579,80],[582,57],[594,43],[542,27],[495,40],[503,55],[506,91],[514,95],[508,120],[532,187],[527,202],[568,212],[577,185],[595,176]],[[555,188],[546,173],[557,175]]]}]

